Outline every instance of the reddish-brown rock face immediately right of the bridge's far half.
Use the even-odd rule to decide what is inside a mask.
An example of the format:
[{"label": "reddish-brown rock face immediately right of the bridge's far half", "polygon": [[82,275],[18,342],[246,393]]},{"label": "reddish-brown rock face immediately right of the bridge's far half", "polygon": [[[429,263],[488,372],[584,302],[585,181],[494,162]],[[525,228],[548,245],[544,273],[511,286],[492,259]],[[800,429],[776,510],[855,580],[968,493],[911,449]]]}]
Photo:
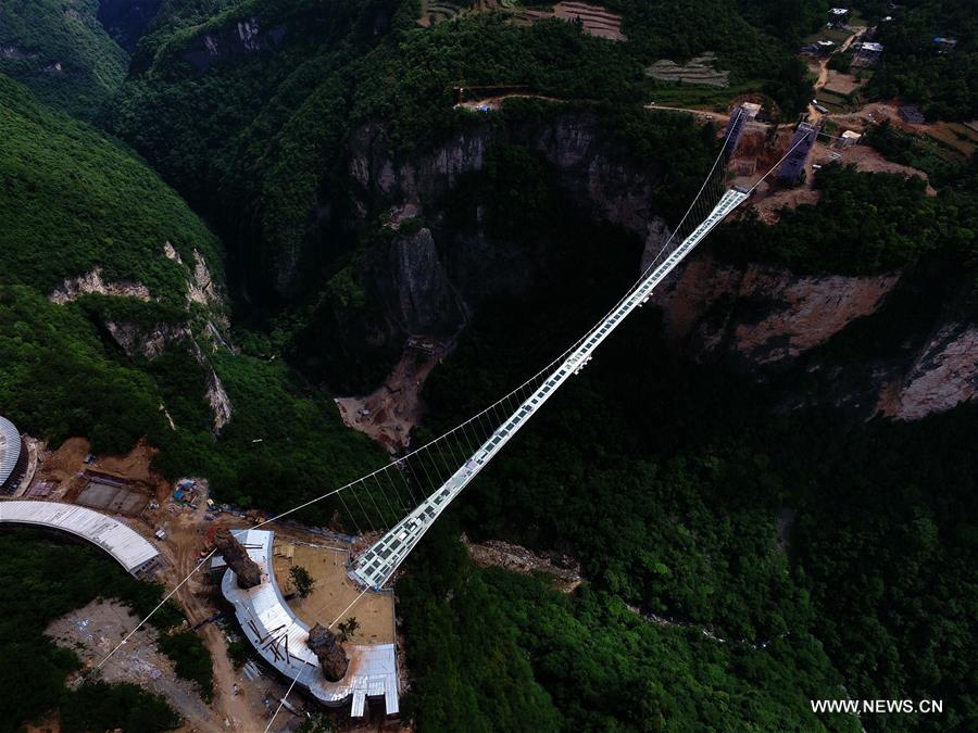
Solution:
[{"label": "reddish-brown rock face immediately right of the bridge's far half", "polygon": [[695,358],[732,356],[736,366],[789,363],[861,316],[899,280],[839,275],[799,277],[783,267],[741,269],[700,254],[660,290],[667,339]]}]

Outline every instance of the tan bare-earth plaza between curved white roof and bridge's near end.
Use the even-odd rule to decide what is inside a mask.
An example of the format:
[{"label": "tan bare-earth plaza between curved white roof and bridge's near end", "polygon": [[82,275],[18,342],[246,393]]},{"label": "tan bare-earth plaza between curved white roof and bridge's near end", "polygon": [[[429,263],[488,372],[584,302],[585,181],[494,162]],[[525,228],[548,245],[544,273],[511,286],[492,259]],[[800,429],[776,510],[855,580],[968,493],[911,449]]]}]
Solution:
[{"label": "tan bare-earth plaza between curved white roof and bridge's near end", "polygon": [[[288,599],[289,607],[309,625],[325,627],[356,617],[360,629],[350,639],[356,644],[390,644],[394,641],[394,599],[392,595],[367,593],[347,577],[347,551],[325,545],[290,542],[276,534],[272,567],[283,595],[294,592],[289,570],[301,566],[315,580],[312,593]],[[289,559],[288,555],[292,558]],[[355,603],[354,603],[355,602]],[[353,604],[351,606],[351,604]]]}]

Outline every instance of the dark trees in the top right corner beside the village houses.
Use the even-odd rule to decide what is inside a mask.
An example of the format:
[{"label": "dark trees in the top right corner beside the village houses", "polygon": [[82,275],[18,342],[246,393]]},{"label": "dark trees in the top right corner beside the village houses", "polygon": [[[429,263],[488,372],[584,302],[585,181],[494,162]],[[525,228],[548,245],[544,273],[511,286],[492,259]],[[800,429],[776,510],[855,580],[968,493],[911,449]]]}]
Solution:
[{"label": "dark trees in the top right corner beside the village houses", "polygon": [[[898,9],[885,2],[861,3],[879,18],[882,63],[869,81],[870,93],[900,97],[923,105],[931,119],[978,117],[978,13],[971,0],[907,0]],[[957,47],[942,53],[936,37]]]}]

